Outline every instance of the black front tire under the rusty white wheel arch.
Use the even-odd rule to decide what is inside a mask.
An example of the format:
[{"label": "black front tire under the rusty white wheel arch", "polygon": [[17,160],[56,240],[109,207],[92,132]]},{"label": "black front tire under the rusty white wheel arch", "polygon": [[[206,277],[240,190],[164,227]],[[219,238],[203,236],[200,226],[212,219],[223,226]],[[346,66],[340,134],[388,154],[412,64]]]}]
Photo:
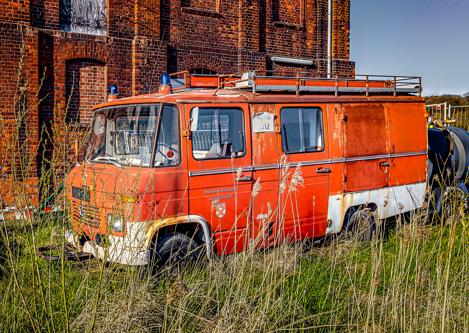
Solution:
[{"label": "black front tire under the rusty white wheel arch", "polygon": [[183,233],[167,233],[158,238],[150,249],[150,263],[140,270],[140,279],[156,274],[190,271],[200,257],[197,242]]}]

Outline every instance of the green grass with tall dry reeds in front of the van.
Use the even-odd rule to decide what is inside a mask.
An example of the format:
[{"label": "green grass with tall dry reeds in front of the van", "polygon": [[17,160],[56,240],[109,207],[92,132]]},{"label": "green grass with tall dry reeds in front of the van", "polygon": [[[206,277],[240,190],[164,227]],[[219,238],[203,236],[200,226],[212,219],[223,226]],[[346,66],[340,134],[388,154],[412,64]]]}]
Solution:
[{"label": "green grass with tall dry reeds in front of the van", "polygon": [[58,220],[7,223],[2,331],[466,332],[466,220],[423,219],[386,221],[371,243],[283,244],[144,282],[129,266],[38,258]]}]

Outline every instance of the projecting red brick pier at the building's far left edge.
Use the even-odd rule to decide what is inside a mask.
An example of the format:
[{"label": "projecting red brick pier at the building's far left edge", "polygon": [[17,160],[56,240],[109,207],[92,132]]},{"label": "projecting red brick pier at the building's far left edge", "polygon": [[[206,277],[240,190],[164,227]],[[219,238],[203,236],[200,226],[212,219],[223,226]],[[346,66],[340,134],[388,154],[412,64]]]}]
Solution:
[{"label": "projecting red brick pier at the building's far left edge", "polygon": [[[24,15],[23,11],[19,13]],[[0,22],[0,31],[0,195],[3,202],[14,202],[15,190],[25,188],[25,194],[35,203],[38,200],[35,158],[38,107],[34,103],[38,91],[38,30]],[[18,75],[22,54],[23,69]],[[20,117],[27,121],[17,121]],[[21,203],[26,204],[24,200]]]}]

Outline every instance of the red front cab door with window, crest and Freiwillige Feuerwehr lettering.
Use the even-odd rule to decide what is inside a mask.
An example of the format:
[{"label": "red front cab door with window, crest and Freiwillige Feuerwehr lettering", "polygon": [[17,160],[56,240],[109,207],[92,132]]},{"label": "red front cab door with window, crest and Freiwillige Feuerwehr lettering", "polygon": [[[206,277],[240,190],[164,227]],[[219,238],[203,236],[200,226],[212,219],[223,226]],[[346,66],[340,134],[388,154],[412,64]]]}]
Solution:
[{"label": "red front cab door with window, crest and Freiwillige Feuerwehr lettering", "polygon": [[186,119],[192,118],[187,145],[189,214],[212,225],[219,254],[240,252],[249,239],[252,190],[248,105],[186,104],[185,112]]}]

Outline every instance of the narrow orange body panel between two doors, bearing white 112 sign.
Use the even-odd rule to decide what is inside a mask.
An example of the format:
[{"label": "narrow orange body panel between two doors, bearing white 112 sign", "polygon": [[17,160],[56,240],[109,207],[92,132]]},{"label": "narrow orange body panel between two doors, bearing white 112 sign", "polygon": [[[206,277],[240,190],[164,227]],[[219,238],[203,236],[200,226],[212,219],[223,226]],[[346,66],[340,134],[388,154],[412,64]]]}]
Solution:
[{"label": "narrow orange body panel between two doors, bearing white 112 sign", "polygon": [[275,104],[250,104],[253,181],[261,191],[253,197],[250,237],[257,247],[275,244],[273,229],[278,220],[279,144],[275,133]]}]

